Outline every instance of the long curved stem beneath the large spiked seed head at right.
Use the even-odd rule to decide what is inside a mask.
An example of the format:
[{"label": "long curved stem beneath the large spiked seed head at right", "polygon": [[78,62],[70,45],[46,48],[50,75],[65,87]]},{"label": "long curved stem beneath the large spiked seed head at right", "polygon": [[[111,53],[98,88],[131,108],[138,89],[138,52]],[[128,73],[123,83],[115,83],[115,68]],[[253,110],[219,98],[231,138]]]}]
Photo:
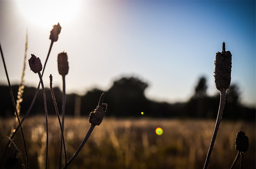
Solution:
[{"label": "long curved stem beneath the large spiked seed head at right", "polygon": [[208,150],[208,153],[207,153],[207,156],[206,156],[206,160],[205,160],[205,164],[204,164],[204,169],[207,169],[208,164],[210,162],[210,157],[211,157],[211,154],[212,154],[212,149],[213,149],[216,137],[217,137],[220,121],[221,121],[222,114],[223,114],[223,109],[224,109],[224,105],[225,105],[225,98],[226,98],[226,89],[222,88],[221,91],[220,91],[220,102],[219,102],[218,116],[217,116],[215,128],[213,130],[212,140],[211,140],[211,143],[210,143],[210,147],[209,147],[209,150]]}]

